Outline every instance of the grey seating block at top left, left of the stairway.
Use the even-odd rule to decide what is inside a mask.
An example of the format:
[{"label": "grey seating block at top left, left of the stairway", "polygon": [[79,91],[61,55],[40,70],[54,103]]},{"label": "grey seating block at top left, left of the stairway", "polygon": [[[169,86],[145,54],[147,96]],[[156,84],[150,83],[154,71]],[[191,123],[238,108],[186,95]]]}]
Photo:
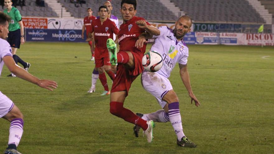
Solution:
[{"label": "grey seating block at top left, left of the stairway", "polygon": [[[39,17],[58,17],[51,7],[45,3],[45,7],[36,6],[35,0],[25,0],[26,6],[17,5],[16,8],[20,11],[22,16],[39,16]],[[14,6],[14,4],[13,4]],[[0,6],[0,11],[4,8]]]}]

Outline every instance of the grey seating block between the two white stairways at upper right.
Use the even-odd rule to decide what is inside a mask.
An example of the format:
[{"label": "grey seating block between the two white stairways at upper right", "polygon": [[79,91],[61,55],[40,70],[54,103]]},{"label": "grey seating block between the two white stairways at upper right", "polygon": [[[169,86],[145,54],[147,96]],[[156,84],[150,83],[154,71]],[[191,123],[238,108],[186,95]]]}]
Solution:
[{"label": "grey seating block between the two white stairways at upper right", "polygon": [[171,0],[194,21],[265,22],[246,0]]}]

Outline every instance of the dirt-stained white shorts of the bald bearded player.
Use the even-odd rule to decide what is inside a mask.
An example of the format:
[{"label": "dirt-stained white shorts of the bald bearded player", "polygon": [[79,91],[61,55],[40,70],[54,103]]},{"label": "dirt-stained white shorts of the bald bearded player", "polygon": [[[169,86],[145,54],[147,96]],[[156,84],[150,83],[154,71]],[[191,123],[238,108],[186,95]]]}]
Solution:
[{"label": "dirt-stained white shorts of the bald bearded player", "polygon": [[164,108],[167,102],[162,99],[168,91],[173,89],[168,78],[153,72],[143,72],[141,83],[144,89],[153,95],[158,100],[159,105]]}]

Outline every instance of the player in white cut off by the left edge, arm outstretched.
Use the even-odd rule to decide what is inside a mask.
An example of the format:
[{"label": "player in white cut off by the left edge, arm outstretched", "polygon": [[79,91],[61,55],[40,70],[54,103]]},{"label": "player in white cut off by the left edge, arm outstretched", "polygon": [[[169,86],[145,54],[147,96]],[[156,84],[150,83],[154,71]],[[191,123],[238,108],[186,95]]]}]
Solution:
[{"label": "player in white cut off by the left edge, arm outstretched", "polygon": [[[4,63],[7,68],[15,74],[28,82],[34,83],[42,88],[52,91],[52,88],[57,87],[57,83],[51,80],[40,80],[25,69],[16,65],[12,58],[12,48],[10,44],[5,40],[9,33],[8,27],[11,18],[0,12],[0,75]],[[0,91],[0,118],[7,119],[11,122],[9,129],[8,147],[5,154],[21,154],[17,151],[17,146],[23,134],[23,114],[18,107],[10,100],[6,95]]]}]

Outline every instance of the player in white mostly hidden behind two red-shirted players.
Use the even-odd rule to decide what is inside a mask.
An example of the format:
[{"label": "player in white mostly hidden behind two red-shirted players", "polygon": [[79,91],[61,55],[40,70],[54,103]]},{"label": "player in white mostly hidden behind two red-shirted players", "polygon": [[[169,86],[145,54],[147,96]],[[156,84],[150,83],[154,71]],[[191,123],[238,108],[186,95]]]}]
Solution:
[{"label": "player in white mostly hidden behind two red-shirted players", "polygon": [[[111,2],[110,1],[104,2],[104,6],[107,7],[107,9],[108,9],[108,12],[107,12],[108,18],[111,21],[113,21],[115,23],[116,27],[119,29],[118,17],[111,14],[111,10],[113,9]],[[97,18],[99,18],[99,17],[97,17]],[[116,35],[113,35],[113,40],[115,40],[115,42],[117,43],[118,40],[116,40]],[[96,86],[96,82],[97,82],[98,78],[99,78],[99,72],[98,72],[97,68],[94,68],[92,71],[92,76],[91,76],[91,87],[87,91],[88,93],[95,92],[95,86]]]}]

